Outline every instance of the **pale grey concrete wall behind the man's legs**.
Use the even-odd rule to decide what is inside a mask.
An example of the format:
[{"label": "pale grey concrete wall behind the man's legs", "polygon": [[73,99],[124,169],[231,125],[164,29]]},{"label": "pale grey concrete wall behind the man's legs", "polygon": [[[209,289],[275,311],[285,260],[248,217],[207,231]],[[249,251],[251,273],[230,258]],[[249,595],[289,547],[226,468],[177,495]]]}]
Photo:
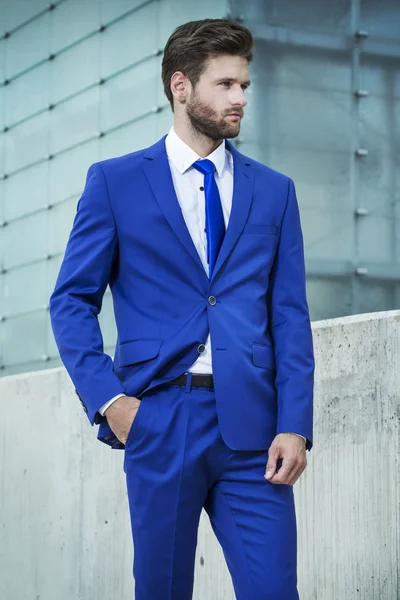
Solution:
[{"label": "pale grey concrete wall behind the man's legs", "polygon": [[[313,332],[314,447],[294,488],[301,600],[396,600],[400,311]],[[0,399],[0,597],[132,598],[122,452],[96,440],[63,368],[0,379]],[[234,599],[205,513],[195,577],[195,600]]]}]

